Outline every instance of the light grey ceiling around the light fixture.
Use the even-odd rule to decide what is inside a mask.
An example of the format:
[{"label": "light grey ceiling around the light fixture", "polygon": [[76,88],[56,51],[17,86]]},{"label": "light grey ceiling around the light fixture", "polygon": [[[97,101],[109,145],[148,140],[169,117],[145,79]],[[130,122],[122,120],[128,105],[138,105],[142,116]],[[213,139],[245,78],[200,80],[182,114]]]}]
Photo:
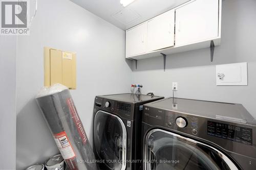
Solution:
[{"label": "light grey ceiling around the light fixture", "polygon": [[189,0],[135,0],[125,8],[120,0],[70,0],[82,8],[127,30]]}]

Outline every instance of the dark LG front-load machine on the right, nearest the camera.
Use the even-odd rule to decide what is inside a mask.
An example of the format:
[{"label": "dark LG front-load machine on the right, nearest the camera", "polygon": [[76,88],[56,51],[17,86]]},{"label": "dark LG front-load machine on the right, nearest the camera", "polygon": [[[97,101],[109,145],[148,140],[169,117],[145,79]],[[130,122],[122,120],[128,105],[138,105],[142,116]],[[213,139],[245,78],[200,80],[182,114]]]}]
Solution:
[{"label": "dark LG front-load machine on the right, nearest the camera", "polygon": [[241,104],[167,98],[142,121],[144,170],[256,169],[256,121]]}]

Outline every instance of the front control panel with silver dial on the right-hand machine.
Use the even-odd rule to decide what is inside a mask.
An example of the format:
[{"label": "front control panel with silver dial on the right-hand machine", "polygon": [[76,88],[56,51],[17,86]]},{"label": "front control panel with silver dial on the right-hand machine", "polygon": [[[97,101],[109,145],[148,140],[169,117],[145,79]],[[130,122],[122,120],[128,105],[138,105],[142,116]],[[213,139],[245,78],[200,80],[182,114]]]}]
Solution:
[{"label": "front control panel with silver dial on the right-hand machine", "polygon": [[[158,106],[159,107],[159,106]],[[143,126],[163,129],[233,153],[255,157],[256,125],[144,105]],[[146,131],[145,131],[146,132]]]}]

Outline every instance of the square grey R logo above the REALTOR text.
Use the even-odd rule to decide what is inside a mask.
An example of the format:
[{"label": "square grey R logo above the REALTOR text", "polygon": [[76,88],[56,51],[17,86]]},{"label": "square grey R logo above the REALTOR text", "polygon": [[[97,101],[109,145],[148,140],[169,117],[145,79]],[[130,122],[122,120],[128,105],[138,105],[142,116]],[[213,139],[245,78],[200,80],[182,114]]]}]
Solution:
[{"label": "square grey R logo above the REALTOR text", "polygon": [[27,28],[26,1],[2,1],[2,28]]}]

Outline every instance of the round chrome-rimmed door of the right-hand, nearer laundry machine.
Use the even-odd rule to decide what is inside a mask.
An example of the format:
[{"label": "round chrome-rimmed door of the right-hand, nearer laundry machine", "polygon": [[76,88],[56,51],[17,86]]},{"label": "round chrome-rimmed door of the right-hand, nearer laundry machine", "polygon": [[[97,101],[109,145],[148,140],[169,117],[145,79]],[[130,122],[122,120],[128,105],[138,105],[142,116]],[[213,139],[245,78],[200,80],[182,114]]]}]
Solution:
[{"label": "round chrome-rimmed door of the right-hand, nearer laundry machine", "polygon": [[222,152],[190,138],[155,129],[146,135],[144,169],[238,169]]}]

